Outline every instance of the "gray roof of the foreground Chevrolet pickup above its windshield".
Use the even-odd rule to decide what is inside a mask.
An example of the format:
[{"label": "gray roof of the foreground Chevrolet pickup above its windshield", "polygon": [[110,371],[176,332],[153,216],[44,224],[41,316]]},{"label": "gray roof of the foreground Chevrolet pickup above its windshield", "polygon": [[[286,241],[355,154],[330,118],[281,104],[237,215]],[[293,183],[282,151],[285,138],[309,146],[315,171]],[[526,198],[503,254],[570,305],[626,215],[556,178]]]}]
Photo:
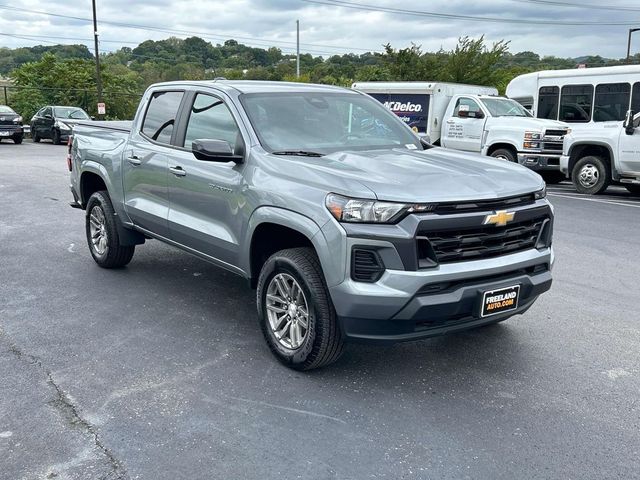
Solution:
[{"label": "gray roof of the foreground Chevrolet pickup above its windshield", "polygon": [[[333,85],[318,85],[315,83],[298,83],[298,82],[272,82],[265,80],[202,80],[202,81],[181,81],[166,82],[152,85],[168,86],[168,85],[204,85],[218,88],[220,90],[235,90],[241,93],[277,93],[277,92],[342,92],[349,93],[352,90],[344,87],[336,87]],[[355,92],[354,92],[355,93]]]}]

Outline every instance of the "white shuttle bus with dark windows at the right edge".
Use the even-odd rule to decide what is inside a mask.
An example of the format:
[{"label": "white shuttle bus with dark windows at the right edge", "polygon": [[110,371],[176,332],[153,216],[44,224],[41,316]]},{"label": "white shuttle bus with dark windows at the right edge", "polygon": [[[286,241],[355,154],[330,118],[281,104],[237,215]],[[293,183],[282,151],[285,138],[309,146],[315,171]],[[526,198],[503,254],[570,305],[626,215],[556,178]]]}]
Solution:
[{"label": "white shuttle bus with dark windows at the right edge", "polygon": [[633,115],[630,128],[623,126],[629,111],[640,111],[640,65],[528,73],[509,83],[507,95],[538,118],[571,125],[561,171],[578,191],[601,193],[620,183],[640,192],[640,134]]}]

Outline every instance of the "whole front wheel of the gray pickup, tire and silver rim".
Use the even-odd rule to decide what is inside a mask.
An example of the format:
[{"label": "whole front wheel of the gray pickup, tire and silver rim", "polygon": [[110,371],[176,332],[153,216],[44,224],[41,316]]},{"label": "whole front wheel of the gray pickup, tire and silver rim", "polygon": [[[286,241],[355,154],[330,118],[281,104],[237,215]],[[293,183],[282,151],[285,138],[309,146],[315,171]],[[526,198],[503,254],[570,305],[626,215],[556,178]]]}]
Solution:
[{"label": "whole front wheel of the gray pickup, tire and silver rim", "polygon": [[342,354],[344,340],[312,248],[273,254],[260,271],[257,303],[264,338],[286,366],[311,370]]}]

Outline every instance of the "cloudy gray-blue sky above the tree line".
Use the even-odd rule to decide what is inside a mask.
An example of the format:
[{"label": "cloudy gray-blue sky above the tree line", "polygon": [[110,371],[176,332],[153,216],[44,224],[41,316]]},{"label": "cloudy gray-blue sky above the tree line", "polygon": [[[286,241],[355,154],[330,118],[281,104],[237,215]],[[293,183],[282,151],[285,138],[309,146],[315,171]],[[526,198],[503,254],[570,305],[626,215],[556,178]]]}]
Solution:
[{"label": "cloudy gray-blue sky above the tree line", "polygon": [[[441,47],[448,50],[456,45],[460,36],[477,38],[484,35],[489,43],[502,39],[510,41],[511,53],[533,51],[541,56],[621,58],[626,55],[629,28],[640,27],[640,3],[636,0],[608,0],[606,7],[596,0],[96,2],[102,51],[134,47],[147,39],[198,35],[214,44],[234,38],[247,45],[276,46],[285,53],[292,53],[295,51],[295,21],[299,19],[301,51],[314,56],[382,51],[386,43],[395,48],[414,43],[421,45],[424,51],[436,51]],[[37,11],[78,19],[34,13]],[[443,18],[443,14],[446,17]],[[451,18],[450,15],[480,20]],[[0,46],[85,43],[93,49],[93,27],[85,20],[90,18],[90,0],[0,0]],[[16,35],[22,38],[16,38]],[[638,51],[640,31],[635,34],[632,44],[632,53]]]}]

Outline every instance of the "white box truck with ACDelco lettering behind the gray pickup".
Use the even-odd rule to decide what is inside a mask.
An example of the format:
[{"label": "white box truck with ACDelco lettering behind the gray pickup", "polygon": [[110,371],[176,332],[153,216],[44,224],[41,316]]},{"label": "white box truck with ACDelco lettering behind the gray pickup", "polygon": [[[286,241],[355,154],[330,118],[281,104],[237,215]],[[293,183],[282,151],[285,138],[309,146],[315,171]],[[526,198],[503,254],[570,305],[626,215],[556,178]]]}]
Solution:
[{"label": "white box truck with ACDelco lettering behind the gray pickup", "polygon": [[518,162],[560,182],[560,156],[569,126],[534,118],[492,87],[432,82],[358,82],[434,145]]}]

